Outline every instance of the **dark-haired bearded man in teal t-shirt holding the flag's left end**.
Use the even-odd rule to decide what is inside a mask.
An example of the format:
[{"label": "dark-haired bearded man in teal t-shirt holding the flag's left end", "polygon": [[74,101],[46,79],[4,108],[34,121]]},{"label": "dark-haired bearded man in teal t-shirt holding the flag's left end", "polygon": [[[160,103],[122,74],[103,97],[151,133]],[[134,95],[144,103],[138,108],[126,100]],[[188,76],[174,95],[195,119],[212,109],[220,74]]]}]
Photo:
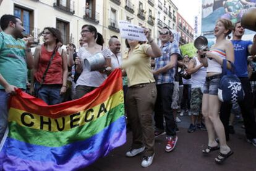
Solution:
[{"label": "dark-haired bearded man in teal t-shirt holding the flag's left end", "polygon": [[32,69],[33,57],[30,45],[33,38],[22,40],[24,27],[14,15],[2,15],[0,19],[0,141],[7,128],[7,101],[15,89],[25,90],[27,68]]}]

